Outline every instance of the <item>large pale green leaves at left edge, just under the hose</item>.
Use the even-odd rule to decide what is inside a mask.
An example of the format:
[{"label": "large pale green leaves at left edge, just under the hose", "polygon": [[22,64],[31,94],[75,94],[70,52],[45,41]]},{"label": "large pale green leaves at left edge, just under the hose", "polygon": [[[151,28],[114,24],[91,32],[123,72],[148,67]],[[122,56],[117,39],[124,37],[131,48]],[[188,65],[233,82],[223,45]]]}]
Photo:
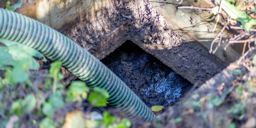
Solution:
[{"label": "large pale green leaves at left edge, just under the hose", "polygon": [[[6,70],[6,84],[25,82],[28,69],[36,70],[39,63],[33,58],[44,57],[43,54],[23,44],[0,39],[6,46],[0,46],[0,70]],[[45,60],[45,59],[44,59]]]}]

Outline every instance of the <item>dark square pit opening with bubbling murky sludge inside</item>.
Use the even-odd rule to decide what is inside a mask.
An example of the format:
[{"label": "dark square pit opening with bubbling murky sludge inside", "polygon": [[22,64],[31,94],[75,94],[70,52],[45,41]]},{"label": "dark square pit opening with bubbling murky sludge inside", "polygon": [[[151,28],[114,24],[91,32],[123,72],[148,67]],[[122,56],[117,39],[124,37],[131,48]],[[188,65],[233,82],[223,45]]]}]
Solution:
[{"label": "dark square pit opening with bubbling murky sludge inside", "polygon": [[129,40],[101,61],[148,107],[173,105],[192,87],[182,76]]}]

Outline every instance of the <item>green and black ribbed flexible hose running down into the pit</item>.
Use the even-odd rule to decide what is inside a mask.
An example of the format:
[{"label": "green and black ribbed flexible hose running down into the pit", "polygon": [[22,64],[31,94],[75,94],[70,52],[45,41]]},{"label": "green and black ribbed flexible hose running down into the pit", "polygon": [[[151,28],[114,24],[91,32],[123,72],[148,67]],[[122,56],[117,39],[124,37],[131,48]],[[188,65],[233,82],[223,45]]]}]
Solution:
[{"label": "green and black ribbed flexible hose running down into the pit", "polygon": [[155,115],[100,60],[60,32],[19,13],[0,8],[0,38],[28,45],[62,66],[87,86],[108,91],[108,103],[120,108],[133,122],[150,122]]}]

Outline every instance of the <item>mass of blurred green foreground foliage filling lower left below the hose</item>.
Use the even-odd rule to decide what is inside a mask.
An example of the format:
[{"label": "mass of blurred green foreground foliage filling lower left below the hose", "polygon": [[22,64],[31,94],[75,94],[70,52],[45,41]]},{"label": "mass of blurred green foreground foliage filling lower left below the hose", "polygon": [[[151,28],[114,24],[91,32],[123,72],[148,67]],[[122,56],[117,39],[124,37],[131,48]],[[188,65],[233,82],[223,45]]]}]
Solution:
[{"label": "mass of blurred green foreground foliage filling lower left below the hose", "polygon": [[[19,122],[15,124],[17,127],[21,120],[32,115],[33,123],[38,121],[40,128],[59,127],[61,123],[56,123],[52,115],[70,102],[82,102],[87,98],[87,93],[92,88],[88,88],[82,81],[74,81],[66,91],[64,85],[60,84],[60,80],[64,78],[60,73],[61,62],[53,62],[49,74],[47,74],[46,82],[41,83],[41,87],[35,87],[35,81],[29,79],[29,70],[40,67],[33,57],[44,56],[23,44],[4,39],[0,39],[0,42],[6,45],[0,46],[0,70],[6,70],[4,77],[0,77],[0,97],[3,98],[4,94],[8,94],[4,96],[6,99],[0,99],[0,119],[6,118],[0,120],[1,126],[4,127],[12,115],[17,115],[20,118]],[[44,60],[46,59],[44,58]],[[19,91],[22,91],[22,95],[25,92],[24,98],[20,98]],[[100,88],[93,88],[92,91],[88,97],[92,105],[96,107],[106,106],[109,98],[108,92]],[[9,98],[9,95],[13,96]],[[63,97],[66,99],[64,100]],[[91,126],[106,126],[108,128],[128,128],[131,126],[128,119],[110,116],[108,112],[104,113],[104,119],[101,121],[87,119],[85,122],[86,124],[93,124]]]}]

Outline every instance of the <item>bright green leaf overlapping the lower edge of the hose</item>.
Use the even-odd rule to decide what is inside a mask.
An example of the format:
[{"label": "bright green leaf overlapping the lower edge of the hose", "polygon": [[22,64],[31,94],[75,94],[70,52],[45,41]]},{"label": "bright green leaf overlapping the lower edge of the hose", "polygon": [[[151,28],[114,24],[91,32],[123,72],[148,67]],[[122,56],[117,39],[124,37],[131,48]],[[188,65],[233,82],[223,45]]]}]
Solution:
[{"label": "bright green leaf overlapping the lower edge of the hose", "polygon": [[109,94],[106,90],[95,87],[89,97],[88,101],[95,107],[103,107],[107,105]]}]

